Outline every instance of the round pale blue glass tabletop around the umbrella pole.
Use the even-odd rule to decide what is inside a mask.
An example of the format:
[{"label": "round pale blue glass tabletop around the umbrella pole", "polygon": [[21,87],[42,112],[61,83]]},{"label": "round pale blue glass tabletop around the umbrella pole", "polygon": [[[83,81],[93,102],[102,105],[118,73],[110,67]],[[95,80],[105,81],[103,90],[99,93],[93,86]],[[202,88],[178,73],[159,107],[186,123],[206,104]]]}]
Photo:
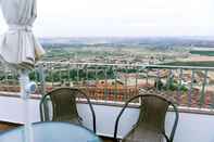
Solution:
[{"label": "round pale blue glass tabletop around the umbrella pole", "polygon": [[[36,122],[34,142],[102,142],[91,130],[68,122]],[[24,127],[0,134],[0,142],[25,142]]]}]

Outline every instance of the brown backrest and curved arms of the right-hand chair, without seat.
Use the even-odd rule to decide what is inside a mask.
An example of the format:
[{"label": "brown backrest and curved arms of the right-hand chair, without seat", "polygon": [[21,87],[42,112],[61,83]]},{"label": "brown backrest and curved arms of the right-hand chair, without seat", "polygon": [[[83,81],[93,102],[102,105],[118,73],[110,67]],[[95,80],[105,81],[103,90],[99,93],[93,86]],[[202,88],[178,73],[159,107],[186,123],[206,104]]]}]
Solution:
[{"label": "brown backrest and curved arms of the right-hand chair, without seat", "polygon": [[[118,129],[118,121],[123,112],[131,101],[139,98],[141,99],[140,115],[136,126],[147,127],[147,129],[158,131],[159,133],[162,133],[165,137],[167,142],[172,142],[178,124],[178,111],[177,107],[171,101],[158,94],[140,94],[128,100],[116,119],[114,138],[117,138],[116,135]],[[171,135],[167,137],[165,133],[165,116],[169,105],[173,106],[176,117]]]}]

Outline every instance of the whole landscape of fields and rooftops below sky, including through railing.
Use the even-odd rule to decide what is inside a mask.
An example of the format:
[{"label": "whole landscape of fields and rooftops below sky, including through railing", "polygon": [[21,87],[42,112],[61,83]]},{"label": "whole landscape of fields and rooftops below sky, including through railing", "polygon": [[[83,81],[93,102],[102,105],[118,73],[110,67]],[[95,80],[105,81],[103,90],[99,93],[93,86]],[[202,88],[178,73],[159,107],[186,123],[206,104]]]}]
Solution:
[{"label": "whole landscape of fields and rooftops below sky, including through railing", "polygon": [[[37,66],[43,66],[43,91],[77,87],[104,101],[158,91],[179,105],[213,107],[212,38],[42,38],[40,42],[47,51]],[[36,69],[30,78],[41,82],[40,74]],[[17,76],[4,75],[2,91],[18,91]]]}]

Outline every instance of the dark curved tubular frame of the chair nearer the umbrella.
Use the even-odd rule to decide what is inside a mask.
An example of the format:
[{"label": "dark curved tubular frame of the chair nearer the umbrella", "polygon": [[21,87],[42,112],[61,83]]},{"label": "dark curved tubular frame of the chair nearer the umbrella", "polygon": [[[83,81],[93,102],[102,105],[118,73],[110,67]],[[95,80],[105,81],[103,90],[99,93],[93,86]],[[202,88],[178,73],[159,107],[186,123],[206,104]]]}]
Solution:
[{"label": "dark curved tubular frame of the chair nearer the umbrella", "polygon": [[[47,120],[46,120],[46,116],[45,116],[45,111],[43,111],[43,109],[45,109],[45,106],[46,106],[46,105],[45,105],[46,100],[48,99],[48,96],[51,95],[52,92],[59,91],[59,89],[71,89],[72,91],[78,91],[78,92],[80,92],[80,94],[87,100],[87,103],[88,103],[88,105],[89,105],[90,112],[91,112],[91,114],[92,114],[93,132],[96,133],[96,132],[97,132],[96,113],[95,113],[95,109],[93,109],[93,107],[92,107],[92,104],[91,104],[89,98],[86,95],[86,93],[83,92],[81,90],[77,89],[77,88],[58,88],[58,89],[55,89],[55,90],[53,90],[53,91],[51,91],[51,92],[45,94],[45,95],[41,98],[41,101],[40,101],[40,104],[39,104],[40,119],[41,119],[41,121],[47,121]],[[71,96],[74,96],[75,100],[76,100],[76,96],[75,96],[75,95],[71,94]],[[77,102],[77,100],[76,100],[76,102]]]}]

